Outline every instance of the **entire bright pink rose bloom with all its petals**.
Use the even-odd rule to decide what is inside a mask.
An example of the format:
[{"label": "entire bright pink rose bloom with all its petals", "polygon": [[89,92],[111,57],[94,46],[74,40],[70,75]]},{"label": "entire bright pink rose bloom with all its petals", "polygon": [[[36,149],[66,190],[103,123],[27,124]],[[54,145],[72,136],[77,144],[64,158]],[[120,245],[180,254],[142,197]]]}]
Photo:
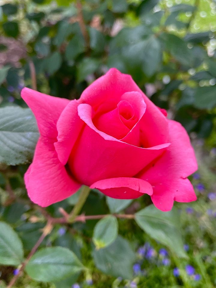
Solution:
[{"label": "entire bright pink rose bloom with all its petals", "polygon": [[25,174],[31,200],[46,207],[82,184],[107,196],[144,193],[163,211],[196,200],[187,177],[197,170],[187,132],[166,118],[130,75],[110,69],[79,100],[29,88],[22,98],[37,119],[40,138]]}]

